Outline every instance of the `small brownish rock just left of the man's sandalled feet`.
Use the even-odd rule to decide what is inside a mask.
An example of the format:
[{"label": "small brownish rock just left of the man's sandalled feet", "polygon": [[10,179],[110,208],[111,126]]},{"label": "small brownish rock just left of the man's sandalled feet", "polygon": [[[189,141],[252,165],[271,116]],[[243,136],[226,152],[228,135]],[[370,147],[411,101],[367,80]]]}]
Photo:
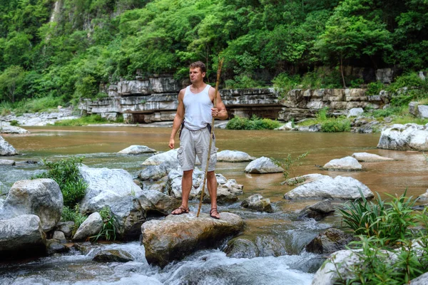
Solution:
[{"label": "small brownish rock just left of the man's sandalled feet", "polygon": [[146,212],[157,212],[159,214],[168,215],[174,209],[180,207],[180,200],[165,195],[156,190],[144,191],[138,197],[141,207]]}]

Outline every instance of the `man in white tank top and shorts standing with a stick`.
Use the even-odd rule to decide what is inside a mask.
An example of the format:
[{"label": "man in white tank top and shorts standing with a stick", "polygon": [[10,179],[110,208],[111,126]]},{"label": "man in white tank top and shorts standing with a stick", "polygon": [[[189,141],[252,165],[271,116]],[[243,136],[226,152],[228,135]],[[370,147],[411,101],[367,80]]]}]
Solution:
[{"label": "man in white tank top and shorts standing with a stick", "polygon": [[[192,84],[178,93],[178,108],[168,144],[171,149],[174,148],[174,138],[181,127],[180,148],[178,149],[177,158],[183,169],[183,180],[181,181],[182,202],[181,206],[171,214],[189,212],[188,201],[190,190],[192,190],[192,175],[195,169],[196,155],[198,155],[199,161],[205,167],[210,144],[210,124],[213,118],[220,120],[228,118],[228,111],[220,98],[220,94],[217,95],[217,108],[213,108],[215,88],[203,81],[206,76],[205,64],[201,61],[190,64],[189,76]],[[210,216],[214,219],[220,219],[220,213],[217,210],[217,179],[214,173],[215,162],[217,162],[215,139],[213,139],[210,151],[207,174],[208,192],[211,197]]]}]

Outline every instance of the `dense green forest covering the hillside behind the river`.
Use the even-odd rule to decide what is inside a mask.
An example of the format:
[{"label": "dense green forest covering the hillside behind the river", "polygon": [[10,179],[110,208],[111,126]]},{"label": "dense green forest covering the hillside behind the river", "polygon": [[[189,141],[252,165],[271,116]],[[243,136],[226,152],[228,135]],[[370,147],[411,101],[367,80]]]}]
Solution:
[{"label": "dense green forest covering the hillside behind the river", "polygon": [[0,100],[101,97],[120,78],[185,78],[198,60],[213,80],[218,56],[226,87],[322,67],[340,87],[353,79],[342,66],[426,70],[427,24],[428,0],[0,0]]}]

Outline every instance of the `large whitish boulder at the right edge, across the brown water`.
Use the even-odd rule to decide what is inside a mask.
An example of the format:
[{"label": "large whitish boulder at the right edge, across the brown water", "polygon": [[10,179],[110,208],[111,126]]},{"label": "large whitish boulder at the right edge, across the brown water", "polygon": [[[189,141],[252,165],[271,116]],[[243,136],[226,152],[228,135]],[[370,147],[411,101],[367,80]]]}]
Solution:
[{"label": "large whitish boulder at the right edge, across the brown water", "polygon": [[428,124],[395,124],[384,128],[377,147],[387,150],[428,150]]}]

